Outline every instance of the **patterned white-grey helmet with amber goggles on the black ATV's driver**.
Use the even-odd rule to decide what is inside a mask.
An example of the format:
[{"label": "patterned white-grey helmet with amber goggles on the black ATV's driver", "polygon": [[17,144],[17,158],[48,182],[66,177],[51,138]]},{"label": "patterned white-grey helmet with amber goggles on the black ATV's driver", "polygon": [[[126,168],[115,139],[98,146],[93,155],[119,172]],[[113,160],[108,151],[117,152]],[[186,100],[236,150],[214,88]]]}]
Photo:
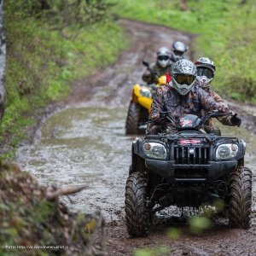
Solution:
[{"label": "patterned white-grey helmet with amber goggles on the black ATV's driver", "polygon": [[177,92],[184,96],[189,93],[195,84],[196,67],[192,61],[180,60],[172,67],[172,80],[169,83]]}]

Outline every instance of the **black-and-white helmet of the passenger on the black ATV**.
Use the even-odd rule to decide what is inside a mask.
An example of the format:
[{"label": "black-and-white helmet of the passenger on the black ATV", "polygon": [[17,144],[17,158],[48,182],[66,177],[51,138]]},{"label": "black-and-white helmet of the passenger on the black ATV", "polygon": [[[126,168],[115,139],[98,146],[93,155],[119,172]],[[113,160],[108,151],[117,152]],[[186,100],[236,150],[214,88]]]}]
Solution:
[{"label": "black-and-white helmet of the passenger on the black ATV", "polygon": [[197,68],[196,84],[209,90],[216,69],[213,61],[209,58],[199,58],[194,63]]}]

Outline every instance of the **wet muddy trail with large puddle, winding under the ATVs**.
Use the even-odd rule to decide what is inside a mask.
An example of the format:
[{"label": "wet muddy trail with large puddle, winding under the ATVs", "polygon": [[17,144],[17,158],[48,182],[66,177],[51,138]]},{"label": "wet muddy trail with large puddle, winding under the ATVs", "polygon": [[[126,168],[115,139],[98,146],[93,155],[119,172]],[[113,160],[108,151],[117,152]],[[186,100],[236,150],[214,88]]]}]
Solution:
[{"label": "wet muddy trail with large puddle, winding under the ATVs", "polygon": [[[145,247],[157,248],[158,254],[148,255],[256,255],[254,183],[250,230],[231,230],[223,217],[212,218],[212,227],[195,235],[180,212],[173,214],[166,209],[154,218],[148,237],[128,236],[125,182],[131,165],[131,143],[136,136],[125,135],[125,119],[132,86],[143,83],[142,61],[154,61],[156,49],[162,46],[171,48],[173,42],[182,41],[189,45],[186,57],[191,59],[195,35],[134,20],[119,20],[119,24],[131,38],[131,48],[112,67],[76,81],[67,99],[34,113],[38,123],[20,144],[17,164],[46,186],[86,185],[87,189],[64,196],[61,201],[74,212],[102,212],[108,225],[109,255],[134,255],[135,249]],[[256,107],[238,106],[232,101],[229,104],[241,116],[242,125],[232,130],[218,126],[223,133],[243,137],[247,142],[246,166],[253,171],[254,181]],[[173,230],[178,233],[176,239],[168,236]]]}]

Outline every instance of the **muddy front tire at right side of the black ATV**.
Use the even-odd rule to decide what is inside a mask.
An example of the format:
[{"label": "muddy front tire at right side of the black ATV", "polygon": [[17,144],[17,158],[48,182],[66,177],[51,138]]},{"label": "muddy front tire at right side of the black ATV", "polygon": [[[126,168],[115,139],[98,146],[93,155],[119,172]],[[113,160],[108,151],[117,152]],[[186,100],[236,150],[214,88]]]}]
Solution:
[{"label": "muddy front tire at right side of the black ATV", "polygon": [[237,167],[230,182],[229,222],[231,228],[249,229],[252,210],[252,171]]}]

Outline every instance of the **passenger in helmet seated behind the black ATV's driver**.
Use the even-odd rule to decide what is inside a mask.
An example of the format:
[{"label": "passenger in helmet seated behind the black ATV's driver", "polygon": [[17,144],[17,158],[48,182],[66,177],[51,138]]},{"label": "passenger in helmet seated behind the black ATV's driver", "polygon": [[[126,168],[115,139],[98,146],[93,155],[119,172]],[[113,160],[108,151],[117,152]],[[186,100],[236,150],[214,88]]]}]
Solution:
[{"label": "passenger in helmet seated behind the black ATV's driver", "polygon": [[[228,104],[224,102],[221,96],[219,96],[218,93],[216,93],[215,91],[211,90],[211,83],[212,83],[212,79],[214,78],[214,74],[216,70],[216,67],[213,61],[210,60],[209,58],[199,58],[194,61],[194,64],[197,68],[197,76],[196,76],[195,84],[199,85],[203,90],[205,90],[215,102],[218,102],[224,105],[224,107],[228,107]],[[230,126],[241,125],[241,119],[237,117],[236,114],[232,116],[218,117],[217,119],[223,125],[230,125]],[[204,125],[204,130],[207,131],[207,133],[214,133],[215,135],[218,135],[218,136],[221,135],[219,128],[214,127],[212,125],[212,119],[207,120],[207,123]]]}]

